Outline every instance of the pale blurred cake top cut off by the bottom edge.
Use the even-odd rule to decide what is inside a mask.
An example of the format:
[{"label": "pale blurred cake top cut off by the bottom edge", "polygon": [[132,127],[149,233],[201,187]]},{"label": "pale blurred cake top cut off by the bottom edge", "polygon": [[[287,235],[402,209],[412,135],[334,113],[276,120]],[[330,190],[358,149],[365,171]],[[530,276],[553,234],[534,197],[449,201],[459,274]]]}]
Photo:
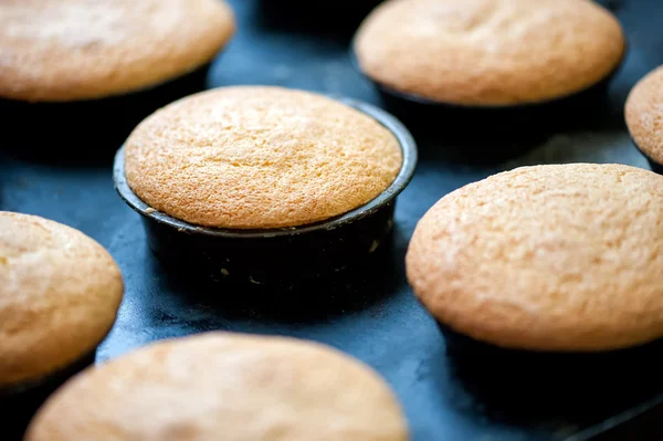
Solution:
[{"label": "pale blurred cake top cut off by the bottom edge", "polygon": [[326,346],[209,333],[87,370],[39,411],[27,441],[404,441],[387,385]]}]

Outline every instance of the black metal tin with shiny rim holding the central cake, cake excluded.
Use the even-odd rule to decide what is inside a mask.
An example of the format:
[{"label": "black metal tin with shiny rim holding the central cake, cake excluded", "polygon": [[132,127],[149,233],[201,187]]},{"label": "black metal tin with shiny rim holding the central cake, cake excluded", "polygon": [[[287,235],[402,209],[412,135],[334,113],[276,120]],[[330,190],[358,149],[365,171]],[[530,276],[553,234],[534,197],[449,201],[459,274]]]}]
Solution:
[{"label": "black metal tin with shiny rim holding the central cake, cake excluded", "polygon": [[406,127],[386,112],[355,99],[338,101],[371,116],[397,137],[403,154],[396,180],[377,198],[323,222],[270,230],[232,230],[194,225],[143,202],[129,188],[124,147],[115,158],[115,188],[141,214],[157,258],[178,272],[213,282],[292,290],[357,266],[390,241],[396,197],[414,172],[417,146]]}]

